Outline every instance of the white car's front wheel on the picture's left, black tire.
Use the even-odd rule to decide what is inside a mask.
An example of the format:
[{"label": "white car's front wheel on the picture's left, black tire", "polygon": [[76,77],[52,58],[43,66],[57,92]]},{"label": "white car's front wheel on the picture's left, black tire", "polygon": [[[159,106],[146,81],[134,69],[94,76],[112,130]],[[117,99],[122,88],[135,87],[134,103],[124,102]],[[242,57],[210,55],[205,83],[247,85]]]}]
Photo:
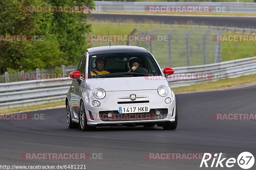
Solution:
[{"label": "white car's front wheel on the picture's left, black tire", "polygon": [[86,114],[85,114],[85,109],[84,109],[84,102],[81,101],[80,103],[80,111],[79,111],[79,129],[83,130],[83,131],[92,131],[95,130],[96,127],[91,127],[88,126],[87,124],[87,118],[86,118]]}]

